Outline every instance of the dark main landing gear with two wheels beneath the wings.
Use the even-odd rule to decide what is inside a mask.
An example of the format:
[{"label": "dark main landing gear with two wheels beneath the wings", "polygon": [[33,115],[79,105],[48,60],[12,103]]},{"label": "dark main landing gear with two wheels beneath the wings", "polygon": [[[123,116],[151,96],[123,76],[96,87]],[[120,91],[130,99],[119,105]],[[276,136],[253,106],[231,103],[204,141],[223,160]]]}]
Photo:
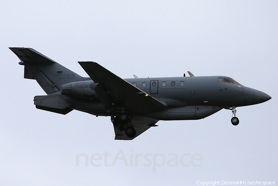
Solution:
[{"label": "dark main landing gear with two wheels beneath the wings", "polygon": [[136,135],[136,131],[135,129],[131,126],[131,122],[129,122],[131,120],[131,117],[128,116],[127,113],[122,112],[119,116],[116,116],[114,118],[114,122],[119,123],[119,125],[122,126],[121,131],[125,131],[125,134],[127,135],[127,137],[134,137]]}]

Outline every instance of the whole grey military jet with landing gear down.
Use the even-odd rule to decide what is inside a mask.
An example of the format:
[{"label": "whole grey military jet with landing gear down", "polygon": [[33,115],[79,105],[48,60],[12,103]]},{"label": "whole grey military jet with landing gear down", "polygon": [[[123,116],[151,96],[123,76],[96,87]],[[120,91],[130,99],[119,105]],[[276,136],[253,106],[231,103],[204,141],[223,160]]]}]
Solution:
[{"label": "whole grey military jet with landing gear down", "polygon": [[31,48],[10,48],[24,65],[24,78],[36,79],[47,95],[36,108],[67,114],[72,110],[111,116],[116,140],[132,140],[159,120],[199,120],[221,109],[263,103],[271,97],[227,76],[122,79],[92,61],[78,62],[81,77]]}]

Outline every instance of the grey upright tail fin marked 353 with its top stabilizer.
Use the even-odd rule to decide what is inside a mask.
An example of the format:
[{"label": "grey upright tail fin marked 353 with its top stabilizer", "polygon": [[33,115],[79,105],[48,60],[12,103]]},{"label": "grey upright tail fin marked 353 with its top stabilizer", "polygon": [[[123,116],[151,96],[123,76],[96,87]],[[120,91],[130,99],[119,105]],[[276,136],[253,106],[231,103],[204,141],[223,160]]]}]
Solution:
[{"label": "grey upright tail fin marked 353 with its top stabilizer", "polygon": [[24,78],[36,79],[46,94],[62,90],[62,84],[91,80],[74,73],[34,49],[18,47],[9,49],[21,60],[19,64],[24,65]]}]

